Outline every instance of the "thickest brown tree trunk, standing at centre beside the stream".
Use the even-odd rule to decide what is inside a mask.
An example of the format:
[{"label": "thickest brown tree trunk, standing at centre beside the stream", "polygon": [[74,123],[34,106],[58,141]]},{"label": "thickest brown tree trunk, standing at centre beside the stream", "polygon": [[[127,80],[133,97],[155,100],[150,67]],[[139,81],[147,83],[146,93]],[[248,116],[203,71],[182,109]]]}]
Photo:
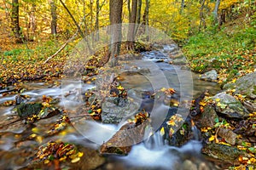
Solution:
[{"label": "thickest brown tree trunk, standing at centre beside the stream", "polygon": [[109,2],[109,20],[111,25],[110,42],[110,65],[117,65],[117,56],[120,53],[122,41],[122,11],[123,0],[110,0]]}]

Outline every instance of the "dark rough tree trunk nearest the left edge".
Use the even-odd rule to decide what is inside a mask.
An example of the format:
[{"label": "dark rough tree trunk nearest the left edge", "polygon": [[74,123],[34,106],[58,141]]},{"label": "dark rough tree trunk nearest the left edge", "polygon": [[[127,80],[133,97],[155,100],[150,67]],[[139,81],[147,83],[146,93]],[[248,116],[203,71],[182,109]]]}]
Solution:
[{"label": "dark rough tree trunk nearest the left edge", "polygon": [[11,22],[12,22],[12,31],[15,34],[15,42],[23,42],[20,24],[19,24],[19,0],[12,0],[12,9],[11,9]]}]

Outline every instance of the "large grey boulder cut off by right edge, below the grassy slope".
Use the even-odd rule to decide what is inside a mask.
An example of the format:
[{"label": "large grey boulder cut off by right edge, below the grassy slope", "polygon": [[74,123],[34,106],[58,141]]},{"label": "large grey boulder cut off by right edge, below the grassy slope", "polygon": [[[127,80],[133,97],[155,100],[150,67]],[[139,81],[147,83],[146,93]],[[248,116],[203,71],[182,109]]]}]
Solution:
[{"label": "large grey boulder cut off by right edge, below the grassy slope", "polygon": [[240,77],[236,82],[224,85],[224,89],[236,89],[235,94],[246,95],[247,98],[256,99],[256,72]]}]

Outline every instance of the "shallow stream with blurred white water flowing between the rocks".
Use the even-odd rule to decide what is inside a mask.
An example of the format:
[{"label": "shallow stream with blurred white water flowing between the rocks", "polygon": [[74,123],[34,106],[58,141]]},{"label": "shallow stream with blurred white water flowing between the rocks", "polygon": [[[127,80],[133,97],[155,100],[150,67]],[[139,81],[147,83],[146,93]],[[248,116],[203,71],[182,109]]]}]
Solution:
[{"label": "shallow stream with blurred white water flowing between the rocks", "polygon": [[[174,53],[175,48],[177,47],[173,44],[163,45],[160,50],[141,53],[142,59],[139,61],[122,65],[122,69],[120,69],[122,80],[120,82],[124,88],[132,89],[135,92],[134,94],[128,94],[128,97],[136,100],[138,94],[165,88],[167,85],[166,88],[176,90],[173,98],[177,99],[179,103],[183,103],[183,101],[195,99],[205,89],[209,90],[211,94],[216,94],[220,90],[216,82],[201,81],[198,78],[199,75],[183,69],[182,65],[170,65],[172,59],[168,57],[168,54]],[[132,70],[131,65],[137,65],[136,70]],[[81,85],[80,82],[73,80],[66,80],[64,83],[63,80],[55,80],[52,83],[25,82],[23,88],[26,90],[21,94],[30,96],[29,99],[26,99],[26,102],[41,101],[43,95],[50,96],[55,101],[56,108],[74,111],[74,108],[77,109],[79,106],[76,102],[77,99],[73,95],[67,97],[63,97],[63,95],[73,91],[78,86],[80,86],[83,93],[96,87],[93,83],[82,83]],[[15,100],[15,95],[3,96],[0,94],[0,104],[8,100]],[[143,101],[143,99],[139,99],[141,105],[145,104]],[[152,105],[152,103],[149,105]],[[150,111],[163,112],[162,115],[151,114],[154,134],[142,142],[134,144],[128,156],[98,156],[95,150],[99,150],[103,142],[117,133],[129,116],[116,125],[91,121],[85,121],[85,123],[84,120],[79,120],[74,122],[73,127],[67,127],[61,133],[32,140],[22,139],[31,133],[39,134],[48,131],[49,127],[54,126],[55,120],[60,119],[61,116],[52,116],[35,123],[39,132],[34,132],[33,128],[27,129],[24,122],[15,122],[9,127],[2,127],[0,129],[0,169],[26,169],[38,146],[46,144],[50,140],[79,144],[81,150],[85,150],[84,155],[86,155],[86,151],[87,153],[90,152],[90,155],[85,156],[77,165],[67,165],[71,169],[214,169],[213,164],[201,155],[200,132],[196,127],[192,127],[193,139],[181,147],[169,145],[166,139],[162,138],[158,128],[163,122],[162,118],[166,117],[166,111],[168,114],[170,111],[183,110],[157,103],[153,103],[153,105],[156,106],[153,109],[151,108]],[[5,122],[17,119],[14,107],[0,106],[2,125]],[[156,122],[155,125],[154,122]]]}]

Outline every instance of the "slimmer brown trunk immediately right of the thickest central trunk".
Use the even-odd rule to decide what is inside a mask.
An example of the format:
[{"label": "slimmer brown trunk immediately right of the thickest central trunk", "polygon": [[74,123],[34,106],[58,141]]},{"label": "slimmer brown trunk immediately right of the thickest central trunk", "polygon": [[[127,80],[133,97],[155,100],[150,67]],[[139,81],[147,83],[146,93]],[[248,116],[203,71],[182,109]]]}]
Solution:
[{"label": "slimmer brown trunk immediately right of the thickest central trunk", "polygon": [[131,3],[131,20],[129,20],[129,30],[127,34],[127,48],[134,50],[135,40],[135,24],[137,19],[137,0],[132,0]]}]

